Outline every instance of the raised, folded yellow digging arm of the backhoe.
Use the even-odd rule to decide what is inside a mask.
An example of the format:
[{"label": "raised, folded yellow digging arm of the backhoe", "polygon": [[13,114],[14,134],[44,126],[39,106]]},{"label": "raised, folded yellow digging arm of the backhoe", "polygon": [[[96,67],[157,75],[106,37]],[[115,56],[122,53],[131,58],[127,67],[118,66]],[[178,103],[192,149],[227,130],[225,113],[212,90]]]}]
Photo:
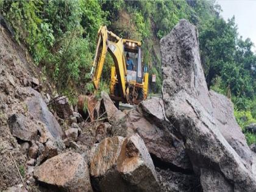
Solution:
[{"label": "raised, folded yellow digging arm of the backhoe", "polygon": [[102,26],[98,30],[98,43],[91,68],[91,79],[93,80],[94,88],[96,90],[99,88],[107,51],[112,55],[115,63],[121,97],[126,98],[127,69],[126,60],[124,59],[123,40],[113,32],[108,31],[106,26]]}]

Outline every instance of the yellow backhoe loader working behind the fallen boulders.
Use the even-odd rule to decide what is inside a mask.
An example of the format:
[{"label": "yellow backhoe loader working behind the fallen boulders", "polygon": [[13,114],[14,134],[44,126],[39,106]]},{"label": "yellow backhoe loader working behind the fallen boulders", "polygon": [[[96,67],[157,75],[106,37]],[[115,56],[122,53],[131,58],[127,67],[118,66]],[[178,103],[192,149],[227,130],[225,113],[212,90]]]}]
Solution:
[{"label": "yellow backhoe loader working behind the fallen boulders", "polygon": [[[98,31],[98,43],[91,68],[94,88],[99,88],[102,68],[107,51],[112,55],[115,66],[111,69],[110,98],[118,107],[119,102],[138,104],[148,95],[148,73],[144,73],[141,59],[141,43],[118,37],[102,26]],[[130,55],[135,67],[127,70],[126,54]]]}]

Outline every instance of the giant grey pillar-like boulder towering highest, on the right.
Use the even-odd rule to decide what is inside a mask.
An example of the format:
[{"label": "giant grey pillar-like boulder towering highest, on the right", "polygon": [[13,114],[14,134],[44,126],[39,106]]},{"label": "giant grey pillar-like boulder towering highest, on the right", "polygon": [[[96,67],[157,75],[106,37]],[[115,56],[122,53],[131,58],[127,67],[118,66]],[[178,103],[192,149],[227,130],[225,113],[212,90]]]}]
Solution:
[{"label": "giant grey pillar-like boulder towering highest, on the right", "polygon": [[[215,176],[217,181],[213,183],[226,183],[235,191],[256,191],[249,163],[223,137],[213,115],[196,27],[180,20],[171,33],[162,38],[160,46],[166,117],[185,140],[194,171],[197,174],[201,174],[202,168],[217,171],[222,177]],[[212,175],[205,174],[205,177],[204,180],[211,180]]]}]

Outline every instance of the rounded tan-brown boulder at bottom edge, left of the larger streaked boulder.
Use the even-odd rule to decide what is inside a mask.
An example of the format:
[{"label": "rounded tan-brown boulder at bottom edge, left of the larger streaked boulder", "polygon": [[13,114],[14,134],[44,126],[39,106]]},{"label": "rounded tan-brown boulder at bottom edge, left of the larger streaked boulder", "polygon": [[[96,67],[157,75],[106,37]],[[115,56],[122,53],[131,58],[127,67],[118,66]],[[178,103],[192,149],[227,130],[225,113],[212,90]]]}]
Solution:
[{"label": "rounded tan-brown boulder at bottom edge, left of the larger streaked boulder", "polygon": [[93,191],[90,184],[90,175],[82,155],[75,152],[52,157],[35,168],[34,177],[55,191]]}]

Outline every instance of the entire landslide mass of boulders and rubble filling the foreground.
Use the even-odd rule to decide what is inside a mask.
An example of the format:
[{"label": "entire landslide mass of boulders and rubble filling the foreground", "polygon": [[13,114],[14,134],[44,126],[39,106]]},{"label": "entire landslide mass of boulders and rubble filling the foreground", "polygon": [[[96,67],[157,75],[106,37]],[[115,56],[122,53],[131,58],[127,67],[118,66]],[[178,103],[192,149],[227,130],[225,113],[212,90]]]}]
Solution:
[{"label": "entire landslide mass of boulders and rubble filling the foreground", "polygon": [[65,96],[51,99],[54,88],[0,32],[0,190],[256,191],[256,155],[229,99],[207,90],[188,21],[160,41],[162,96],[122,112],[102,92],[94,122]]}]

